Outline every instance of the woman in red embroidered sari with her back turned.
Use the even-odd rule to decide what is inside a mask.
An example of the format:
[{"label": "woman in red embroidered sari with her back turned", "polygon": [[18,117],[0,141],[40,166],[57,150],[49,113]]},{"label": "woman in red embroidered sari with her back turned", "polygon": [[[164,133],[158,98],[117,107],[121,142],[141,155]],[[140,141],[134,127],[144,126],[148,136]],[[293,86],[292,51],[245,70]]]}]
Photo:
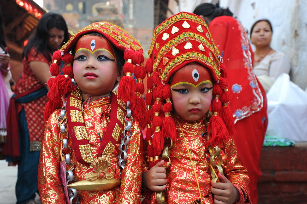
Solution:
[{"label": "woman in red embroidered sari with her back turned", "polygon": [[227,8],[210,3],[200,4],[194,13],[209,24],[227,68],[231,93],[229,106],[235,119],[234,135],[238,152],[250,177],[251,202],[257,203],[257,180],[261,175],[260,153],[267,127],[266,93],[254,74],[247,33]]}]

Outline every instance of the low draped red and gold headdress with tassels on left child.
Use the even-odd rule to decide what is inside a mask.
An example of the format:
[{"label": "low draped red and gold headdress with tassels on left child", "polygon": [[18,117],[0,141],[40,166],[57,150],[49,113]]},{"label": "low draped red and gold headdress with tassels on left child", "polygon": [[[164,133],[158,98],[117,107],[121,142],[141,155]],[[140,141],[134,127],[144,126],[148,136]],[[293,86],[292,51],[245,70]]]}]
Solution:
[{"label": "low draped red and gold headdress with tassels on left child", "polygon": [[[70,51],[81,36],[91,32],[100,33],[112,45],[124,52],[126,62],[123,71],[125,76],[119,82],[119,98],[125,102],[130,101],[133,116],[138,121],[142,121],[145,115],[145,103],[142,98],[144,93],[143,79],[146,76],[146,70],[142,66],[144,62],[143,49],[140,43],[128,32],[109,22],[97,22],[83,28],[73,35],[60,50],[53,53],[53,63],[50,66],[51,78],[48,80],[50,91],[47,96],[49,102],[45,107],[45,120],[48,120],[52,111],[62,107],[62,96],[75,89],[71,81],[71,78],[73,78],[73,55]],[[92,48],[91,44],[88,45],[89,49]],[[95,42],[96,49],[98,45],[99,42]],[[65,62],[64,75],[59,75],[61,61]],[[133,73],[137,81],[134,80]]]}]

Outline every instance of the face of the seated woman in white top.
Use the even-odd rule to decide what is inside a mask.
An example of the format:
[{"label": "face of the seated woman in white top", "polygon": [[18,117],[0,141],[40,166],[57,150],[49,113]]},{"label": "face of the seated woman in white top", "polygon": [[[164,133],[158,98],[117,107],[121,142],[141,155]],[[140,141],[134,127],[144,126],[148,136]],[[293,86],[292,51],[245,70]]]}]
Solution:
[{"label": "face of the seated woman in white top", "polygon": [[258,22],[251,33],[251,42],[257,46],[269,46],[272,40],[272,30],[266,21]]}]

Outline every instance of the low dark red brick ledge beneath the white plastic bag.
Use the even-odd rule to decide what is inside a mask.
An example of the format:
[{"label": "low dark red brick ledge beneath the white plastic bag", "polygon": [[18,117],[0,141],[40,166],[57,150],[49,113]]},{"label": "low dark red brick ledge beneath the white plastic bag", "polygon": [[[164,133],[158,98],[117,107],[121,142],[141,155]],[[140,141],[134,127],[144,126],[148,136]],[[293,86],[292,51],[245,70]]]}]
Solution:
[{"label": "low dark red brick ledge beneath the white plastic bag", "polygon": [[258,203],[307,204],[307,142],[294,147],[263,147]]}]

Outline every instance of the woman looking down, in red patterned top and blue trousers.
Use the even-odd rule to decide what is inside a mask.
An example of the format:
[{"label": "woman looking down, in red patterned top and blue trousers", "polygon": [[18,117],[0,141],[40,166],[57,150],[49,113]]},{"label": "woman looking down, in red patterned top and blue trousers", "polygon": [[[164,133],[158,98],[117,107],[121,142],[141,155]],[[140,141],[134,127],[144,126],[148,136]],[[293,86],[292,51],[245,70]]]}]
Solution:
[{"label": "woman looking down, in red patterned top and blue trousers", "polygon": [[23,72],[10,101],[7,142],[3,146],[9,165],[18,163],[17,203],[34,203],[38,192],[39,144],[45,130],[43,111],[48,102],[45,84],[50,78],[52,53],[67,40],[64,18],[58,13],[46,13],[22,53]]}]

